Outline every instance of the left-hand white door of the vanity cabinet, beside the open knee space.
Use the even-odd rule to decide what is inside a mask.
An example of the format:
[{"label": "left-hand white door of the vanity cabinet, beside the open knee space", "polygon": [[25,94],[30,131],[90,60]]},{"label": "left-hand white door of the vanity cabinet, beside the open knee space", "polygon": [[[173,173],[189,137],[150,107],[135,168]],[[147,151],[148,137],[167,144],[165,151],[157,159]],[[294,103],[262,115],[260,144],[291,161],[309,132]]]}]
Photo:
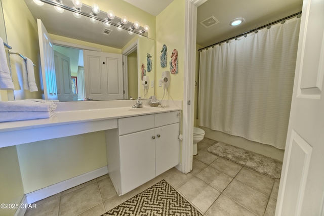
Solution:
[{"label": "left-hand white door of the vanity cabinet, beside the open knee space", "polygon": [[155,177],[154,128],[119,136],[121,195]]}]

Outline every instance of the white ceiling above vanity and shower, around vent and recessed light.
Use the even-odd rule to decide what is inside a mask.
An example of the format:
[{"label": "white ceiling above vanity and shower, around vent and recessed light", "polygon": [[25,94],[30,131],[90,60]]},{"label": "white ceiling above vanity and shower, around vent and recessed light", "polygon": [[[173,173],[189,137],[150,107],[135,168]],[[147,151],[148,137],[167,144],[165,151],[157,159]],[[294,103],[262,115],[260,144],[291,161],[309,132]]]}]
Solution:
[{"label": "white ceiling above vanity and shower, around vent and recessed light", "polygon": [[[173,0],[124,0],[154,16]],[[197,9],[197,44],[203,47],[216,44],[238,34],[298,13],[303,0],[208,0]],[[214,16],[219,23],[205,28],[199,22]],[[244,23],[233,27],[229,22],[242,17]]]}]

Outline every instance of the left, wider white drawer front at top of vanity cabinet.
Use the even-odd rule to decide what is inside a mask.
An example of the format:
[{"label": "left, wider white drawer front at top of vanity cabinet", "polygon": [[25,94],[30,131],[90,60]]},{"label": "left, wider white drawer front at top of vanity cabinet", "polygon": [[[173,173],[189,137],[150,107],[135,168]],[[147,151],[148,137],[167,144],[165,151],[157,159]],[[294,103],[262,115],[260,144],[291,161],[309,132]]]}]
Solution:
[{"label": "left, wider white drawer front at top of vanity cabinet", "polygon": [[154,115],[118,119],[119,136],[154,128]]}]

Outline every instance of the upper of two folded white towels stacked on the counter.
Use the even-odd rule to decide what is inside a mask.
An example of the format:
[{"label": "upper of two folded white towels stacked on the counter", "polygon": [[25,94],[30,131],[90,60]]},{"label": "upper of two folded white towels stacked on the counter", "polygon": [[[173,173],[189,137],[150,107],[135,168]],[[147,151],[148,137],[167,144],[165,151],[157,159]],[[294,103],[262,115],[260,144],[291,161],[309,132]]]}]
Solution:
[{"label": "upper of two folded white towels stacked on the counter", "polygon": [[37,102],[32,99],[19,100],[19,101],[0,101],[0,113],[9,111],[41,111],[48,112],[54,111],[56,104],[52,101]]}]

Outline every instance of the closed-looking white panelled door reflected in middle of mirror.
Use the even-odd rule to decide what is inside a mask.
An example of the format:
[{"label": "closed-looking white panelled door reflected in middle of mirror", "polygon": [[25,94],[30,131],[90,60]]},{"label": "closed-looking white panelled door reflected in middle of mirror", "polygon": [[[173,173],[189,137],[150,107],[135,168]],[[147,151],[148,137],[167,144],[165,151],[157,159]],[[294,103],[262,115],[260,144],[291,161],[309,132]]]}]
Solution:
[{"label": "closed-looking white panelled door reflected in middle of mirror", "polygon": [[121,54],[84,50],[86,97],[91,100],[124,99]]}]

